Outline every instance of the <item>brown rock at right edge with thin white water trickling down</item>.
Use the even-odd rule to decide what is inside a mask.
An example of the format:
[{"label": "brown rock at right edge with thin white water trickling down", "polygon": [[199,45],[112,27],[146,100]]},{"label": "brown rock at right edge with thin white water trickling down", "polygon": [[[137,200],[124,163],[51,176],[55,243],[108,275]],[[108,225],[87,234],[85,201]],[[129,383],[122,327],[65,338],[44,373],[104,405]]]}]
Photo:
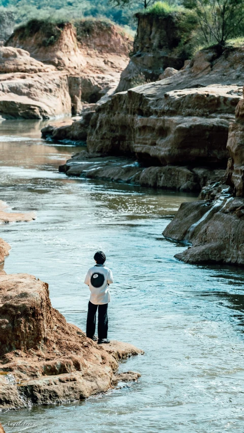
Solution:
[{"label": "brown rock at right edge with thin white water trickling down", "polygon": [[244,265],[243,102],[230,124],[230,159],[224,178],[204,187],[197,202],[182,204],[163,232],[166,238],[190,245],[175,256],[188,263]]}]

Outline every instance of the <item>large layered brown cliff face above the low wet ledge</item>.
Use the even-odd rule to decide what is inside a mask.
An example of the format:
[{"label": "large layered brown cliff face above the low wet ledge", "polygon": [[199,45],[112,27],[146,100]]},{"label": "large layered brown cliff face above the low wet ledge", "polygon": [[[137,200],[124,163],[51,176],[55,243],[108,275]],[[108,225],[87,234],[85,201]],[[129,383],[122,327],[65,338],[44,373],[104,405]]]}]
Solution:
[{"label": "large layered brown cliff face above the low wet ledge", "polygon": [[148,164],[225,165],[241,88],[166,91],[167,80],[117,93],[101,105],[90,123],[88,150],[136,154]]}]

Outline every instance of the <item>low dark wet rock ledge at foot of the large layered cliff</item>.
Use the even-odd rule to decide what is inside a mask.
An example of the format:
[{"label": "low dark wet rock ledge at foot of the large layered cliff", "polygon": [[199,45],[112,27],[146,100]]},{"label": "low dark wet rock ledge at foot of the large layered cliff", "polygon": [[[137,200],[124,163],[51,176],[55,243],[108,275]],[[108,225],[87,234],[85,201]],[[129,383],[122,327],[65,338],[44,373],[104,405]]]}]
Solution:
[{"label": "low dark wet rock ledge at foot of the large layered cliff", "polygon": [[[68,127],[65,127],[66,131],[67,129]],[[59,127],[58,134],[61,132],[62,129]],[[48,129],[45,133],[48,133]],[[73,155],[66,164],[60,165],[59,171],[66,173],[67,176],[112,180],[188,192],[200,191],[207,181],[218,180],[225,173],[224,170],[204,167],[192,169],[190,166],[178,165],[144,167],[133,158],[88,153],[86,150]]]}]

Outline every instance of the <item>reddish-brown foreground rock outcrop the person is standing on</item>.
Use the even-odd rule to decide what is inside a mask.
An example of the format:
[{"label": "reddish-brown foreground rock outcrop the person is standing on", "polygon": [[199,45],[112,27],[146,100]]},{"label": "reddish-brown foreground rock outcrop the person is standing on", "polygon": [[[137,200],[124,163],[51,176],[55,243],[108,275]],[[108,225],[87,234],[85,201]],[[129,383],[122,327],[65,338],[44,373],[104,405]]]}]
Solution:
[{"label": "reddish-brown foreground rock outcrop the person is standing on", "polygon": [[98,345],[51,307],[48,285],[26,274],[0,275],[0,408],[64,403],[107,391],[138,373],[118,361],[143,353]]}]

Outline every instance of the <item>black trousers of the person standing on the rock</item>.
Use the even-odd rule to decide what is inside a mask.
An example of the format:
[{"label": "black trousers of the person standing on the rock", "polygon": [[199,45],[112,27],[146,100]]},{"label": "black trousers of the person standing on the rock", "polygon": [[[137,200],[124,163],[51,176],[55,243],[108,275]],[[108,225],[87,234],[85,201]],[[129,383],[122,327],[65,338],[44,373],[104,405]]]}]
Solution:
[{"label": "black trousers of the person standing on the rock", "polygon": [[86,320],[86,337],[93,338],[96,330],[96,313],[98,309],[98,338],[108,338],[108,304],[95,305],[88,303]]}]

